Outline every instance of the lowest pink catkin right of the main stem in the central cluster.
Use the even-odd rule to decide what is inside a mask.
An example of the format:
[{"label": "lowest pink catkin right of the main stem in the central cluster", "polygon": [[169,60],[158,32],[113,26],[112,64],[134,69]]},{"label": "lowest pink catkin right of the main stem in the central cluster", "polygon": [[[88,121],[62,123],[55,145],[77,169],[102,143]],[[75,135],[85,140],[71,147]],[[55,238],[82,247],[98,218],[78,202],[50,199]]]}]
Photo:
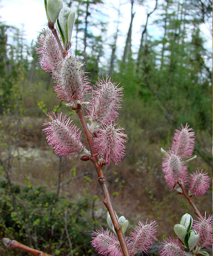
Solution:
[{"label": "lowest pink catkin right of the main stem in the central cluster", "polygon": [[[97,137],[93,139],[94,149],[98,156],[101,156],[106,164],[114,161],[117,165],[125,156],[125,138],[128,136],[122,133],[124,128],[115,128],[112,124],[98,129]],[[122,138],[123,137],[123,138]]]}]

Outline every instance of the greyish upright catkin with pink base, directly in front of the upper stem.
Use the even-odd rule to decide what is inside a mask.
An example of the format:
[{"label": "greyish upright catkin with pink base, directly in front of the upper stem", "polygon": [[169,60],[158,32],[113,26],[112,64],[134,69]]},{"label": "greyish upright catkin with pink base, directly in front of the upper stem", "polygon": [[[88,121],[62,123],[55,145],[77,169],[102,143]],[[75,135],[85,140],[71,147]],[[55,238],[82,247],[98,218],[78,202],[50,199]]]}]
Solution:
[{"label": "greyish upright catkin with pink base, directly in front of the upper stem", "polygon": [[57,93],[57,97],[71,105],[84,103],[84,94],[90,88],[81,66],[83,64],[69,51],[61,62],[59,74],[55,78],[56,87],[54,87],[54,91]]}]

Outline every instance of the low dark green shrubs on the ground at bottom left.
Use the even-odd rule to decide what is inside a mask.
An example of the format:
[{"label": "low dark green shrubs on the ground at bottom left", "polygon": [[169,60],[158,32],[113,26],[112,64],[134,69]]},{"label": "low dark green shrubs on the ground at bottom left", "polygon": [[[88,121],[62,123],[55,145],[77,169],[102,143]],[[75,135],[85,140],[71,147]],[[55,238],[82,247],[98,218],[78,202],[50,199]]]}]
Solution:
[{"label": "low dark green shrubs on the ground at bottom left", "polygon": [[[42,251],[57,255],[67,255],[70,251],[65,232],[65,210],[67,208],[67,229],[73,253],[91,255],[90,232],[93,227],[92,216],[88,214],[92,198],[59,198],[53,205],[56,193],[47,187],[33,187],[28,181],[22,187],[14,184],[18,211],[15,211],[8,181],[0,179],[0,237],[12,237],[28,244],[26,226],[30,227],[33,245]],[[22,194],[23,193],[23,194]],[[25,198],[23,201],[22,196]],[[51,211],[52,209],[52,211]],[[53,232],[51,233],[51,229]],[[88,252],[90,250],[90,253]]]}]

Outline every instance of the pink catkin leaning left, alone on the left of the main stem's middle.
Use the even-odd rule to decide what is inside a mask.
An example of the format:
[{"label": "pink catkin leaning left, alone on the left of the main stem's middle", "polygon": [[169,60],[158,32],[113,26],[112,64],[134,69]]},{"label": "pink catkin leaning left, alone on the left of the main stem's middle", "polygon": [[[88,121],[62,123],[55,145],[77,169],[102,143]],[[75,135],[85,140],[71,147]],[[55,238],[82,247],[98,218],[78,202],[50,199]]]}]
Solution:
[{"label": "pink catkin leaning left, alone on the left of the main stem's middle", "polygon": [[43,125],[47,125],[43,131],[46,133],[46,140],[50,147],[53,148],[54,153],[70,157],[83,153],[84,147],[80,141],[81,131],[75,125],[70,125],[72,120],[62,116],[62,112],[58,117],[53,112],[53,116],[48,113],[47,116],[52,122],[44,122]]}]

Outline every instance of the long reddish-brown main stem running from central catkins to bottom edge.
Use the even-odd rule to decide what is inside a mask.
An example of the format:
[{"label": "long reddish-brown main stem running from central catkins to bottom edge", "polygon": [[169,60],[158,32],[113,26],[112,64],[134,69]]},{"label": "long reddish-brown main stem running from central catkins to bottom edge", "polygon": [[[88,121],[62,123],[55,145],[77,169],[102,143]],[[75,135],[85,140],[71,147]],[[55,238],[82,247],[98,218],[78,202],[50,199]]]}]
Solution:
[{"label": "long reddish-brown main stem running from central catkins to bottom edge", "polygon": [[89,146],[90,153],[91,153],[90,160],[93,162],[93,164],[96,168],[96,171],[97,171],[97,174],[98,174],[98,181],[99,181],[99,183],[101,185],[101,188],[103,190],[103,194],[104,194],[103,203],[105,204],[105,206],[106,206],[106,208],[107,208],[107,210],[110,214],[110,217],[111,217],[112,223],[114,225],[114,228],[115,228],[117,237],[119,239],[120,246],[121,246],[121,249],[124,253],[124,256],[129,256],[127,243],[124,239],[124,235],[123,235],[123,232],[122,232],[122,229],[121,229],[121,225],[119,224],[119,222],[118,222],[118,220],[115,216],[115,211],[112,207],[112,202],[111,202],[110,194],[109,194],[109,191],[108,191],[108,188],[107,188],[107,185],[106,185],[106,179],[105,179],[105,176],[104,176],[104,173],[103,173],[102,165],[100,165],[98,163],[97,155],[95,154],[94,149],[93,149],[93,142],[92,142],[93,134],[88,129],[86,120],[84,118],[84,111],[81,108],[81,104],[77,104],[77,107],[76,107],[75,111],[76,111],[77,116],[79,117],[82,128],[84,130],[84,134],[86,136],[86,140],[88,142],[88,146]]}]

